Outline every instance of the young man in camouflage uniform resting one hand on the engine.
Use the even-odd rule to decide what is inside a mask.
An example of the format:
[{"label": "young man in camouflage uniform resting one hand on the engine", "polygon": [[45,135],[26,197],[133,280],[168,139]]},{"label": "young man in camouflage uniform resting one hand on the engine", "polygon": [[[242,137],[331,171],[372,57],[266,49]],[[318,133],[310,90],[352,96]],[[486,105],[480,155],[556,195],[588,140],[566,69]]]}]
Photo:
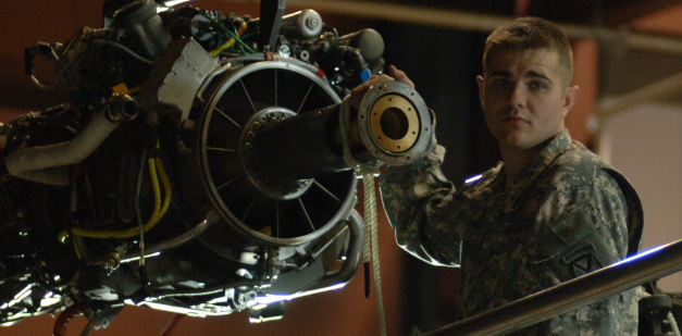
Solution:
[{"label": "young man in camouflage uniform resting one hand on the engine", "polygon": [[[455,190],[445,150],[382,176],[398,244],[437,265],[461,266],[460,319],[469,318],[637,252],[642,208],[627,179],[572,141],[565,117],[578,98],[567,37],[551,23],[517,18],[486,41],[478,77],[485,120],[503,162]],[[411,84],[395,67],[397,80]],[[357,108],[375,77],[351,95]],[[518,332],[519,335],[636,335],[634,290]]]}]

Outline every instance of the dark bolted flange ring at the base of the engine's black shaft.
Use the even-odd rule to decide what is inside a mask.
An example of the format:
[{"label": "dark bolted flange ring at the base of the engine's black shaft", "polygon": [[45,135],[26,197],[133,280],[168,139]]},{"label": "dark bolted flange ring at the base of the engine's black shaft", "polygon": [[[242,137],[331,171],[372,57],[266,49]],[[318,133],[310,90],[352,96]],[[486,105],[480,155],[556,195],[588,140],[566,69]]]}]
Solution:
[{"label": "dark bolted flange ring at the base of the engine's black shaft", "polygon": [[262,158],[255,154],[253,151],[253,146],[258,144],[257,138],[262,133],[261,129],[264,125],[281,123],[285,119],[295,115],[296,112],[282,107],[272,107],[258,111],[244,126],[239,140],[239,159],[247,178],[262,194],[273,199],[295,199],[306,192],[314,181],[314,178],[290,179],[262,174],[260,172]]}]

